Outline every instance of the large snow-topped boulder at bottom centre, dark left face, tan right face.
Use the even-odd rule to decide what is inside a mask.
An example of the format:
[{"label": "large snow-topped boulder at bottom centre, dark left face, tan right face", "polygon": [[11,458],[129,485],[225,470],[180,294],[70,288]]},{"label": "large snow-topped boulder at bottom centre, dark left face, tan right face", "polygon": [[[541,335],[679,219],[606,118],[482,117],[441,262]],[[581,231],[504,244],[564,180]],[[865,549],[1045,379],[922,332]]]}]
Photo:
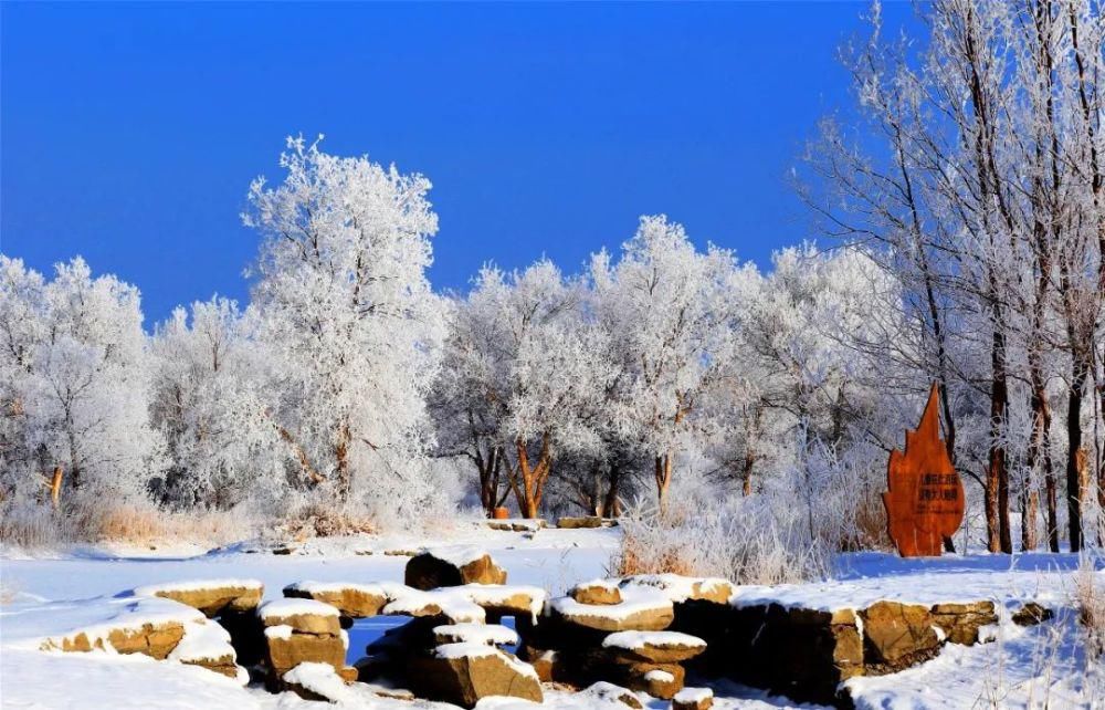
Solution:
[{"label": "large snow-topped boulder at bottom centre, dark left face, tan right face", "polygon": [[420,698],[472,708],[481,698],[508,696],[541,702],[532,666],[484,644],[445,644],[411,661],[411,690]]}]

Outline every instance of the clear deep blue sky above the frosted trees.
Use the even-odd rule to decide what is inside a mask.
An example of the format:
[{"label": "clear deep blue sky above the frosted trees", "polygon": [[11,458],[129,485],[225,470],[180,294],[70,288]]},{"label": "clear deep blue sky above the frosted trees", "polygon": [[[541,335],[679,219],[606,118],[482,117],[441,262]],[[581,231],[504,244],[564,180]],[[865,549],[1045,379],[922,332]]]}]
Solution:
[{"label": "clear deep blue sky above the frosted trees", "polygon": [[651,212],[765,264],[811,236],[786,176],[851,103],[835,52],[865,11],[6,2],[0,250],[82,254],[141,289],[147,326],[245,301],[249,182],[280,177],[285,135],[324,133],[431,178],[441,289],[486,260],[575,270]]}]

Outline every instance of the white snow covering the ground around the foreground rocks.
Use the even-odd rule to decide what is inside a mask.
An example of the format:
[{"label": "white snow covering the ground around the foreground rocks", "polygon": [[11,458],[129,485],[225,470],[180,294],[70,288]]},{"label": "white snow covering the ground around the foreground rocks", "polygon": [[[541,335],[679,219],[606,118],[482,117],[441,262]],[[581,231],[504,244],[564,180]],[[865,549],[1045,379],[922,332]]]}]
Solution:
[{"label": "white snow covering the ground around the foreground rocks", "polygon": [[[81,549],[49,557],[11,551],[0,558],[0,706],[3,708],[323,708],[291,695],[272,696],[243,688],[201,668],[158,662],[143,656],[106,652],[40,651],[28,638],[86,622],[90,599],[114,597],[135,587],[194,578],[250,578],[265,584],[265,597],[278,598],[293,582],[401,582],[408,557],[387,551],[424,545],[478,545],[509,574],[511,584],[561,594],[572,584],[607,574],[619,543],[617,529],[541,530],[536,534],[491,531],[460,524],[438,536],[356,537],[303,544],[287,555],[269,547],[235,545],[198,555],[167,555],[165,550],[123,554]],[[175,552],[175,551],[169,551]],[[1098,562],[1093,572],[1105,586]],[[1077,574],[1072,555],[954,555],[941,560],[903,561],[894,555],[860,553],[840,561],[831,582],[786,587],[740,587],[737,599],[771,599],[821,608],[862,607],[875,599],[935,603],[994,599],[1002,623],[993,643],[971,648],[949,645],[938,658],[892,676],[850,681],[860,707],[1105,708],[1101,675],[1086,669],[1078,629],[1071,617]],[[1008,619],[1023,599],[1060,609],[1056,618],[1021,628]],[[104,599],[99,604],[106,604]],[[102,607],[103,608],[103,607]],[[70,626],[70,623],[72,624]],[[365,645],[402,618],[376,617],[350,629],[350,660]],[[1098,669],[1099,670],[1099,669]],[[729,682],[713,683],[719,710],[796,707],[783,698]],[[401,704],[397,704],[401,703]],[[349,707],[400,710],[434,703],[385,700],[354,692]],[[522,710],[524,701],[486,702],[486,710]],[[666,708],[652,701],[652,708]],[[528,706],[527,706],[528,707]],[[624,708],[599,695],[546,693],[545,707]]]}]

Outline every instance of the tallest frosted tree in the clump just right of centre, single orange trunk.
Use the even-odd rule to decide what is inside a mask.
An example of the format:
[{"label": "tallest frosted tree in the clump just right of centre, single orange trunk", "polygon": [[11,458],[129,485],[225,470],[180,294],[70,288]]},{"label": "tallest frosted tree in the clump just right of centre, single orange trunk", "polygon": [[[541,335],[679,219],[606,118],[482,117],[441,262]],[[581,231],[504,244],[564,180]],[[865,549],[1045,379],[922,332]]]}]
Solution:
[{"label": "tallest frosted tree in the clump just right of centre, single orange trunk", "polygon": [[675,457],[699,434],[701,399],[730,356],[739,274],[732,252],[699,251],[662,215],[642,217],[617,260],[592,258],[596,317],[629,379],[612,414],[652,457],[661,502]]}]

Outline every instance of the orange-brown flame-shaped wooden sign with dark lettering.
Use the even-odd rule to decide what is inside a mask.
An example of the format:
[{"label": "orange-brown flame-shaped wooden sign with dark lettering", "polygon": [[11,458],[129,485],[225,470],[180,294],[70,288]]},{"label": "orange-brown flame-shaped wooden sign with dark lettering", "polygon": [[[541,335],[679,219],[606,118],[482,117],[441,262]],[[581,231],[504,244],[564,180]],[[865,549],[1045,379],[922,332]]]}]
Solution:
[{"label": "orange-brown flame-shaped wooden sign with dark lettering", "polygon": [[940,395],[933,385],[916,430],[895,449],[883,493],[886,529],[903,557],[939,556],[964,520],[964,487],[940,438]]}]

